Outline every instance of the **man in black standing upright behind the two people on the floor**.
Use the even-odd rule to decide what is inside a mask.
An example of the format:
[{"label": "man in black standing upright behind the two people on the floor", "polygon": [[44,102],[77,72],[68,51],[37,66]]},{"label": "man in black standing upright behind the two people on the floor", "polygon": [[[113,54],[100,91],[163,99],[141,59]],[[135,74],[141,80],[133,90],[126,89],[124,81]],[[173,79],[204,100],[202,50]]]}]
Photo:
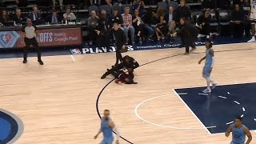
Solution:
[{"label": "man in black standing upright behind the two people on the floor", "polygon": [[126,49],[126,34],[124,30],[120,28],[118,22],[114,22],[113,35],[115,38],[114,44],[116,47],[116,62],[114,66],[117,66],[119,61],[122,62],[122,50]]}]

